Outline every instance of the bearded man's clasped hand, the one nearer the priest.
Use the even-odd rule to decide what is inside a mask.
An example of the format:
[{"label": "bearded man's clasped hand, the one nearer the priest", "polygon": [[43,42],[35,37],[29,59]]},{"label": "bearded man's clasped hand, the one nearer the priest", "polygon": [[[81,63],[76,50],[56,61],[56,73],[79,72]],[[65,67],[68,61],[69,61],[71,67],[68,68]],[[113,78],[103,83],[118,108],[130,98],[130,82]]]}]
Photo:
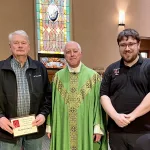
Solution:
[{"label": "bearded man's clasped hand, the one nearer the priest", "polygon": [[114,121],[121,128],[127,126],[130,123],[130,120],[127,118],[126,114],[119,113],[115,116]]}]

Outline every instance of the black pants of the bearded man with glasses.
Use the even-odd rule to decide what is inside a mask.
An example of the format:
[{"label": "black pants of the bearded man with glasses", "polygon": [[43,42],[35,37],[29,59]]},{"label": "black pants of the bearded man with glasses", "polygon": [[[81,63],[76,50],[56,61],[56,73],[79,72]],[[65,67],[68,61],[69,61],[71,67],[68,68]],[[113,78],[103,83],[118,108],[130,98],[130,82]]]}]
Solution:
[{"label": "black pants of the bearded man with glasses", "polygon": [[139,149],[139,145],[143,146],[145,139],[148,139],[148,136],[145,135],[147,134],[110,133],[110,148],[111,150],[150,150],[150,147],[148,149]]}]

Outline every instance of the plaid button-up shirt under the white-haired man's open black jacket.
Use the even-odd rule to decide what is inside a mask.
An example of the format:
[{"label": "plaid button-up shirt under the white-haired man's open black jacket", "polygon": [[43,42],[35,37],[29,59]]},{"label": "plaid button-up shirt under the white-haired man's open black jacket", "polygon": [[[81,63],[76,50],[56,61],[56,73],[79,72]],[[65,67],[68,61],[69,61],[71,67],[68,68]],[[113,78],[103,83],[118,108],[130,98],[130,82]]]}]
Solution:
[{"label": "plaid button-up shirt under the white-haired man's open black jacket", "polygon": [[26,70],[29,68],[28,60],[21,67],[21,64],[14,58],[11,59],[11,67],[16,74],[17,80],[17,115],[24,116],[30,112],[30,93],[26,77]]}]

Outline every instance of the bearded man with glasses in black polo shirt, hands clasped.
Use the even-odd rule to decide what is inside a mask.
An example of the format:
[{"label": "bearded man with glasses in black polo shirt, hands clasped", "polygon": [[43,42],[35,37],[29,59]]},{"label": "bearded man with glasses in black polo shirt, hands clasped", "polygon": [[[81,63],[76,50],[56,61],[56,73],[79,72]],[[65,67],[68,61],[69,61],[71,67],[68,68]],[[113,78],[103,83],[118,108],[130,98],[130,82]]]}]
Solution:
[{"label": "bearded man with glasses in black polo shirt, hands clasped", "polygon": [[117,42],[122,58],[105,71],[101,104],[109,115],[111,150],[133,150],[137,139],[150,132],[150,60],[139,55],[134,29],[120,32]]}]

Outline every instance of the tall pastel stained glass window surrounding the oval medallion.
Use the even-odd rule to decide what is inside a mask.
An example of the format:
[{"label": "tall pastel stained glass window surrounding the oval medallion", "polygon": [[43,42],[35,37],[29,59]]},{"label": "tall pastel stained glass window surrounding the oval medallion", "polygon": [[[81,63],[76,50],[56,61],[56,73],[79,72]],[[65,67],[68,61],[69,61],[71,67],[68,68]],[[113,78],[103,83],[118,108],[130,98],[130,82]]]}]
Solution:
[{"label": "tall pastel stained glass window surrounding the oval medallion", "polygon": [[[59,10],[58,19],[52,22],[48,6],[54,3]],[[70,0],[36,0],[38,53],[63,53],[70,40]]]}]

